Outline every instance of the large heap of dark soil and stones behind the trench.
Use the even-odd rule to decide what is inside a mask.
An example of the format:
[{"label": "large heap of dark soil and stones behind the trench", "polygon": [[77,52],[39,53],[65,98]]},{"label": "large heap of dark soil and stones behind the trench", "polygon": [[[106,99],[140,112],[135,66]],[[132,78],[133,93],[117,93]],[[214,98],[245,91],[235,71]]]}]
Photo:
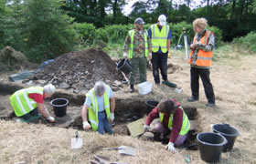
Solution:
[{"label": "large heap of dark soil and stones behind the trench", "polygon": [[91,89],[99,80],[113,90],[118,89],[122,84],[117,81],[123,77],[110,56],[100,49],[88,49],[59,56],[37,73],[36,79],[40,85],[51,83],[55,87],[80,92]]}]

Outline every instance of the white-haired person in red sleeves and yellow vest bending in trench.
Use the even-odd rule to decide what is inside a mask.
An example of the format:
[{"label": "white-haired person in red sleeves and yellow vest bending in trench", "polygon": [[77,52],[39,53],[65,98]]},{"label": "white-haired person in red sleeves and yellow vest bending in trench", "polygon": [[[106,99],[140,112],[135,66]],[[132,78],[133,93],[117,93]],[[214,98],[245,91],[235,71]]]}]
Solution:
[{"label": "white-haired person in red sleeves and yellow vest bending in trench", "polygon": [[47,108],[44,107],[44,98],[51,97],[55,90],[56,88],[51,84],[45,87],[28,87],[17,90],[9,97],[16,117],[21,118],[19,119],[21,122],[30,122],[37,120],[40,113],[49,122],[55,122],[55,118],[51,117]]}]

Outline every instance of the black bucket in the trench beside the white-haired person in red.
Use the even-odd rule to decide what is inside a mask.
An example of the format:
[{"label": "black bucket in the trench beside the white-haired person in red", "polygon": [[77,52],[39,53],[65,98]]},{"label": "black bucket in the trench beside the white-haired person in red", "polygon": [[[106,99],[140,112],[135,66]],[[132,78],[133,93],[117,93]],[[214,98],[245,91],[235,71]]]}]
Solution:
[{"label": "black bucket in the trench beside the white-haired person in red", "polygon": [[69,100],[66,98],[56,98],[50,101],[50,105],[53,107],[54,115],[56,117],[64,117],[67,113]]}]

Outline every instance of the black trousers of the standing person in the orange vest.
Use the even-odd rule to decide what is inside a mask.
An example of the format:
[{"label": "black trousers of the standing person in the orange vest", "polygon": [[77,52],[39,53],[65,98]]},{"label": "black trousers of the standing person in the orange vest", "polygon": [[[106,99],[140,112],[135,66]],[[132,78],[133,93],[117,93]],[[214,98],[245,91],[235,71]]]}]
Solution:
[{"label": "black trousers of the standing person in the orange vest", "polygon": [[199,98],[199,77],[201,77],[203,86],[205,88],[208,103],[215,104],[214,91],[209,79],[209,69],[206,68],[191,67],[190,69],[190,87],[192,97]]}]

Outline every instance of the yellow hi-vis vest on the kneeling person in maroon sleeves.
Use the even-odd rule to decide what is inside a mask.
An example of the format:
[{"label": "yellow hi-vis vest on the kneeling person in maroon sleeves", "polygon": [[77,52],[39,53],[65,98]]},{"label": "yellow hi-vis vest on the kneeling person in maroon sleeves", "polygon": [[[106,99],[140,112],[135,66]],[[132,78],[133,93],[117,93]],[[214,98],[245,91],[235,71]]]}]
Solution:
[{"label": "yellow hi-vis vest on the kneeling person in maroon sleeves", "polygon": [[[183,111],[183,122],[182,122],[182,127],[180,129],[180,132],[179,134],[180,135],[186,135],[188,130],[190,129],[190,122],[187,118],[187,114],[184,112],[183,108],[182,107],[179,107],[182,109]],[[164,114],[163,113],[160,113],[159,112],[159,118],[160,118],[160,122],[163,122],[164,120]],[[172,128],[173,127],[173,117],[174,117],[174,114],[170,115],[170,118],[169,118],[169,123],[168,123],[168,128]]]}]

